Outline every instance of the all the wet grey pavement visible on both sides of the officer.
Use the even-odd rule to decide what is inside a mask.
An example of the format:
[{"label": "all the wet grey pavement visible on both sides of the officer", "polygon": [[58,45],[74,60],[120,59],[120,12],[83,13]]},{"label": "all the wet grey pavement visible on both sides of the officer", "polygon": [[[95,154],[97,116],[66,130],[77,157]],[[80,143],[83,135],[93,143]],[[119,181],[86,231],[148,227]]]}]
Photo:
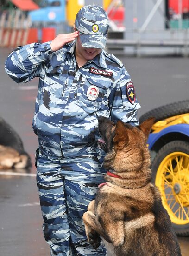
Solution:
[{"label": "all the wet grey pavement visible on both sides of the officer", "polygon": [[[34,152],[38,146],[31,122],[38,79],[16,84],[4,72],[4,61],[11,49],[0,48],[0,116],[18,132],[33,163],[25,170],[4,171],[0,175],[0,256],[49,256],[44,241],[42,216],[35,181]],[[146,111],[189,99],[188,58],[120,57],[132,77]],[[3,170],[0,171],[2,174]],[[189,256],[189,237],[179,238],[183,256]]]}]

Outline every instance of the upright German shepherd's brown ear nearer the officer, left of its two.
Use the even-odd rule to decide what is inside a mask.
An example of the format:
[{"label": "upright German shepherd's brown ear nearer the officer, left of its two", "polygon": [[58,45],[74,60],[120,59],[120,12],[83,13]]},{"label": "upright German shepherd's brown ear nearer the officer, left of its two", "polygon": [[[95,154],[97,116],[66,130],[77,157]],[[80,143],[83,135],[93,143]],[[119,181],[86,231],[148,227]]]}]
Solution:
[{"label": "upright German shepherd's brown ear nearer the officer, left of its two", "polygon": [[126,127],[122,121],[118,120],[115,127],[115,136],[113,138],[113,142],[117,143],[119,149],[122,149],[126,145],[126,141],[128,141]]}]

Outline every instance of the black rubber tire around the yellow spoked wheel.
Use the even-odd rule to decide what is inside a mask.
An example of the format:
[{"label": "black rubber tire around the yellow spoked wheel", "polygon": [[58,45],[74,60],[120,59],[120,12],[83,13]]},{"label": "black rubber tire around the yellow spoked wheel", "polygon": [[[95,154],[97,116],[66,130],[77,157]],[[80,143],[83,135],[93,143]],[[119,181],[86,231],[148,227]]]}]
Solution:
[{"label": "black rubber tire around the yellow spoked wheel", "polygon": [[[158,152],[153,162],[151,163],[152,182],[155,184],[156,173],[160,163],[163,159],[173,152],[183,152],[189,155],[189,143],[185,141],[171,141],[164,145]],[[179,225],[172,223],[172,226],[178,236],[189,236],[189,223],[185,225]]]}]

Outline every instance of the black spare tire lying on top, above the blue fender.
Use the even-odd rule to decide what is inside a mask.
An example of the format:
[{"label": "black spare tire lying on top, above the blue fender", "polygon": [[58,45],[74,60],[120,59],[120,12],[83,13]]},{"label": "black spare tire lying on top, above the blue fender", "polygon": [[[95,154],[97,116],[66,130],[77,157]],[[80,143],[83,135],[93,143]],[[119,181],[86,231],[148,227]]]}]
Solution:
[{"label": "black spare tire lying on top, above the blue fender", "polygon": [[145,121],[151,116],[154,116],[157,122],[174,115],[181,115],[185,113],[189,113],[189,100],[178,101],[161,106],[159,108],[154,108],[146,112],[144,115],[141,115],[139,118],[139,123]]}]

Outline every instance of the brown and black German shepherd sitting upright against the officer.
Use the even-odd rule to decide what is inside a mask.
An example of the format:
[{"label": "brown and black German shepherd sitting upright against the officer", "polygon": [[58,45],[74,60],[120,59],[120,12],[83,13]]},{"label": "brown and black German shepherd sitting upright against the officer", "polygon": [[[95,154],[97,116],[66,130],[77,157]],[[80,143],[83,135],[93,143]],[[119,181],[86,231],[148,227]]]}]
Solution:
[{"label": "brown and black German shepherd sitting upright against the officer", "polygon": [[170,217],[151,183],[146,146],[155,118],[138,127],[105,117],[99,119],[99,144],[107,155],[106,183],[83,215],[88,242],[102,242],[112,256],[181,256]]}]

